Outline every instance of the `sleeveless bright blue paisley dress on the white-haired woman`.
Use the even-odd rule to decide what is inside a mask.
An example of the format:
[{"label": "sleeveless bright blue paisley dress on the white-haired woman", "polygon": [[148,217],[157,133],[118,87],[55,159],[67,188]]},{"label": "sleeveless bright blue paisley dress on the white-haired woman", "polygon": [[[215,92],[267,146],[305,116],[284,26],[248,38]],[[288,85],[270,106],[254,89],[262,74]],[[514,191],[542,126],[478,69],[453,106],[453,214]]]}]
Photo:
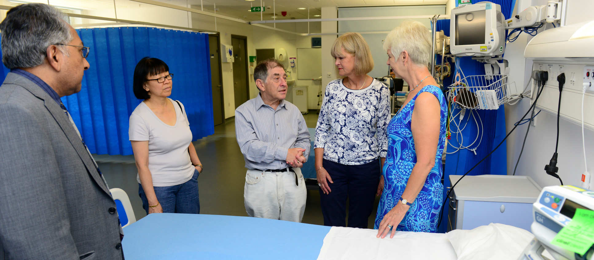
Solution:
[{"label": "sleeveless bright blue paisley dress on the white-haired woman", "polygon": [[400,200],[405,191],[406,183],[416,164],[415,140],[410,130],[412,112],[415,100],[419,94],[429,92],[434,94],[440,102],[440,139],[435,154],[435,166],[429,172],[425,184],[410,206],[402,222],[396,227],[399,231],[432,232],[437,230],[437,219],[443,202],[443,189],[441,176],[441,154],[445,146],[445,121],[447,120],[447,102],[440,88],[427,85],[400,109],[388,125],[388,154],[384,169],[384,191],[381,194],[380,204],[377,208],[374,229],[378,229],[384,215],[388,213]]}]

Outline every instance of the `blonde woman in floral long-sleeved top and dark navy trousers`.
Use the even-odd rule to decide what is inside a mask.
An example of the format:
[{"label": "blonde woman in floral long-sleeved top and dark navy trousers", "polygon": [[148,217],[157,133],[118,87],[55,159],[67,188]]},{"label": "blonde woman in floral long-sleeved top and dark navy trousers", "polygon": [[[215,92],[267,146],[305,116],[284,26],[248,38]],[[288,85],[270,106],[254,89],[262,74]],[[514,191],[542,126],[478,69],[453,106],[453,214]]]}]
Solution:
[{"label": "blonde woman in floral long-sleeved top and dark navy trousers", "polygon": [[315,169],[324,225],[366,229],[380,183],[380,161],[388,148],[389,91],[367,75],[369,46],[358,33],[345,33],[331,48],[338,74],[326,87],[315,128]]}]

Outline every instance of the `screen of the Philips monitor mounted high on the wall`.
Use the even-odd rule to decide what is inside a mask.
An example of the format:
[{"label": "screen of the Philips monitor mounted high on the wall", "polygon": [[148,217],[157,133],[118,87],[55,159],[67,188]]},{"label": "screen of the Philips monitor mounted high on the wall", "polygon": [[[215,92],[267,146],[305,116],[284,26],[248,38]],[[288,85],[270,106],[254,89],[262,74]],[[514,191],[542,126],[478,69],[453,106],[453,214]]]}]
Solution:
[{"label": "screen of the Philips monitor mounted high on the wall", "polygon": [[485,21],[485,10],[457,14],[456,45],[484,45]]}]

